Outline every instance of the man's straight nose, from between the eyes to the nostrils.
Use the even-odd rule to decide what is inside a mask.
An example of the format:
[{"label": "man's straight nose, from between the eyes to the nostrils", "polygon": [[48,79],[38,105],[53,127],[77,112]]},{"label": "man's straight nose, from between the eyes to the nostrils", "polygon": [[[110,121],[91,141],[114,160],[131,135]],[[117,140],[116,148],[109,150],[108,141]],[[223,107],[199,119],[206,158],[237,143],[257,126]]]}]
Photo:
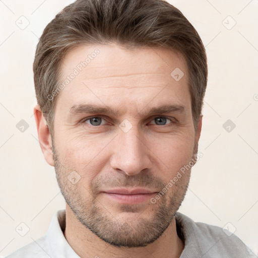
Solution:
[{"label": "man's straight nose, from between the eyes to the nostrils", "polygon": [[115,170],[131,176],[151,168],[151,151],[146,144],[146,137],[138,129],[118,132],[112,149],[110,166]]}]

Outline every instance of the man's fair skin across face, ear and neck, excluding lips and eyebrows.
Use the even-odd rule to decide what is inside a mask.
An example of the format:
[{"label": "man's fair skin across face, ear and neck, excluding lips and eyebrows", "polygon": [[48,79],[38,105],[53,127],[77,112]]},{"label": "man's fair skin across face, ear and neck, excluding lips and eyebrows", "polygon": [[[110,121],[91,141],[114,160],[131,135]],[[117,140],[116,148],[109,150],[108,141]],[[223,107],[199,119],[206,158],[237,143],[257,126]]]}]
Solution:
[{"label": "man's fair skin across face, ear and neck, excluding lips and eyebrows", "polygon": [[[61,79],[96,49],[58,94],[52,136],[40,107],[34,108],[42,152],[67,201],[64,236],[81,257],[179,257],[184,243],[174,215],[190,169],[155,204],[121,204],[103,191],[145,188],[157,195],[195,156],[202,116],[195,131],[186,62],[163,47],[81,45],[65,56]],[[175,68],[184,73],[179,81],[170,75]],[[116,113],[71,112],[80,104]],[[149,114],[162,105],[177,109]]]}]

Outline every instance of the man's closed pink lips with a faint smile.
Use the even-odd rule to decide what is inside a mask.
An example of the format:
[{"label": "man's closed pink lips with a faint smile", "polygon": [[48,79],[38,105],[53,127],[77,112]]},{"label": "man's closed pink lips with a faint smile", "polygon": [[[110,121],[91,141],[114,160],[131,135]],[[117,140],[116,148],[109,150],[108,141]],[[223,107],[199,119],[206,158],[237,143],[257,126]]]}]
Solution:
[{"label": "man's closed pink lips with a faint smile", "polygon": [[150,199],[157,194],[157,191],[137,188],[119,188],[102,191],[103,195],[115,202],[121,204],[139,204],[150,201]]}]

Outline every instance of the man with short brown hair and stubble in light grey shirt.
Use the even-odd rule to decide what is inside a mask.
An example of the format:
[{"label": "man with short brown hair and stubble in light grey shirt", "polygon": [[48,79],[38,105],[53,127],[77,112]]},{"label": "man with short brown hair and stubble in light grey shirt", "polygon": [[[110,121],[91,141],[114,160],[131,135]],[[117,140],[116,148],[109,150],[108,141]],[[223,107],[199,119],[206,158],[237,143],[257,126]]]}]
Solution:
[{"label": "man with short brown hair and stubble in light grey shirt", "polygon": [[34,60],[43,155],[67,202],[8,257],[255,257],[235,235],[177,212],[198,142],[207,59],[161,0],[80,0]]}]

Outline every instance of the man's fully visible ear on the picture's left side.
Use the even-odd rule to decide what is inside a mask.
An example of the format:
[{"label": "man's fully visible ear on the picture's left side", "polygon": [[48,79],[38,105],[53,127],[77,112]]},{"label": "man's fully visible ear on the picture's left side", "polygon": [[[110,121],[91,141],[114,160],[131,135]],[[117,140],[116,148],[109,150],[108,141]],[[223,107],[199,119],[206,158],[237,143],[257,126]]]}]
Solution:
[{"label": "man's fully visible ear on the picture's left side", "polygon": [[37,124],[38,140],[40,148],[45,157],[46,162],[50,166],[54,166],[53,153],[52,153],[52,140],[46,124],[45,117],[43,116],[40,106],[36,105],[33,109],[34,116]]}]

